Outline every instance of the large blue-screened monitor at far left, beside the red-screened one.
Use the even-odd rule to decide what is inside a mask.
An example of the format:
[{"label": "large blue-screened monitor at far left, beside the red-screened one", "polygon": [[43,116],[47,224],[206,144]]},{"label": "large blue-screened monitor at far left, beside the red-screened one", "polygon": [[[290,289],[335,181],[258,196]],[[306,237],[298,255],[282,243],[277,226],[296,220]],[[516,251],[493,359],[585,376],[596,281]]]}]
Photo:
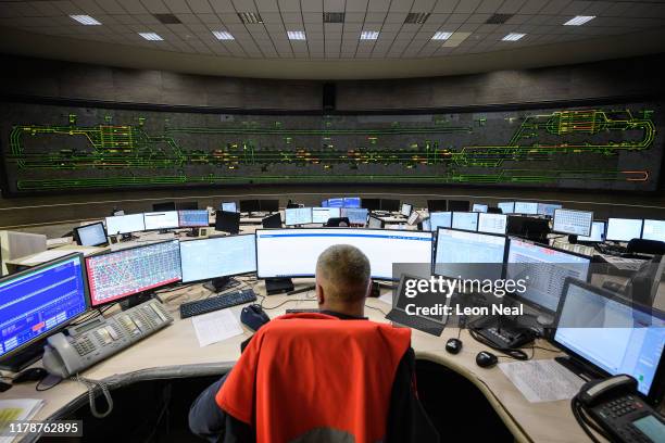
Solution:
[{"label": "large blue-screened monitor at far left, beside the red-screened one", "polygon": [[5,360],[88,309],[83,254],[57,258],[0,279],[0,360]]}]

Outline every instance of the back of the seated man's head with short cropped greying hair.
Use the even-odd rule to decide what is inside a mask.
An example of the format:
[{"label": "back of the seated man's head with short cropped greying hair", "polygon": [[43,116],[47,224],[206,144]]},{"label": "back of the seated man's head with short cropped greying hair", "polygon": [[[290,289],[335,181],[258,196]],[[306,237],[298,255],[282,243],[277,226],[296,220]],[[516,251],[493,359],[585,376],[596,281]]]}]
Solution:
[{"label": "back of the seated man's head with short cropped greying hair", "polygon": [[336,244],[318,256],[316,283],[325,299],[332,303],[363,302],[369,287],[369,261],[361,250],[350,244]]}]

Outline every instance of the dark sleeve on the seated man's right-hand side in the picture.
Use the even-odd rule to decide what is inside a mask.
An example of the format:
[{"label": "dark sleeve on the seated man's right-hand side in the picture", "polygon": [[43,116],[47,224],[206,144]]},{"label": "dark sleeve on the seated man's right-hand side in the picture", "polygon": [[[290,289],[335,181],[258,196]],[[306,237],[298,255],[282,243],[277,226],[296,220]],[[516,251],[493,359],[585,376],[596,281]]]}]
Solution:
[{"label": "dark sleeve on the seated man's right-hand side in the picture", "polygon": [[439,433],[417,397],[415,353],[410,347],[398,365],[390,394],[386,443],[438,443]]}]

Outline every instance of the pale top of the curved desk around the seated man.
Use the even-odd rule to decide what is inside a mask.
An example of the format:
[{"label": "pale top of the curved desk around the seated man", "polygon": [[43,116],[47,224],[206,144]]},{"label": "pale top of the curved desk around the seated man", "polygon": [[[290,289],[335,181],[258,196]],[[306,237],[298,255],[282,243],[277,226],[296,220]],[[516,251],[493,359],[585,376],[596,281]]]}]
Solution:
[{"label": "pale top of the curved desk around the seated man", "polygon": [[[262,282],[256,282],[253,278],[242,278],[242,280],[253,286],[258,294],[265,294]],[[311,282],[311,280],[303,279],[298,280],[297,284]],[[112,358],[91,367],[83,376],[95,380],[103,380],[114,388],[146,379],[187,378],[225,372],[240,356],[240,343],[249,338],[251,332],[243,329],[244,333],[242,336],[200,347],[191,318],[181,320],[178,315],[178,305],[206,295],[209,295],[209,291],[201,284],[165,292],[163,300],[175,319],[174,324]],[[272,308],[287,300],[290,303]],[[264,299],[263,305],[271,318],[274,318],[284,314],[286,308],[316,307],[316,302],[313,291],[310,291],[290,296],[268,296]],[[372,320],[387,321],[382,313],[390,309],[388,304],[378,299],[368,299],[366,306],[365,315]],[[241,307],[231,308],[238,318]],[[462,331],[461,334],[464,342],[462,352],[457,355],[448,354],[444,351],[446,341],[451,337],[456,337],[456,328],[447,328],[441,337],[413,330],[412,345],[417,358],[444,365],[470,380],[485,394],[517,441],[589,441],[575,421],[568,401],[529,403],[499,367],[494,366],[489,369],[478,367],[475,363],[475,356],[479,351],[487,347],[473,340],[466,331]],[[547,343],[539,344],[551,349],[551,345]],[[535,351],[535,358],[552,358],[555,355],[555,353],[543,350]],[[83,384],[65,380],[45,392],[36,392],[34,383],[16,385],[2,393],[2,398],[45,400],[45,407],[34,418],[35,420],[43,420],[61,417],[86,404],[87,393]],[[452,398],[452,401],[459,402],[464,407],[463,398]],[[469,410],[469,414],[473,415],[473,410]]]}]

